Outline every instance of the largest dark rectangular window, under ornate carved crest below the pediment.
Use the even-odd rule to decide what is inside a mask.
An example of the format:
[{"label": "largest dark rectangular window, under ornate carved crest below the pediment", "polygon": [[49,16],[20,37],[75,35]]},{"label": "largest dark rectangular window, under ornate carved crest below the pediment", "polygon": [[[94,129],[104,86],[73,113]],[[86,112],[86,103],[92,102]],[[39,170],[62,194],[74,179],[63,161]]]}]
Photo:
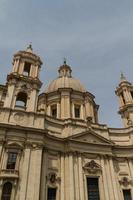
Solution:
[{"label": "largest dark rectangular window, under ornate carved crest below the pediment", "polygon": [[87,178],[88,200],[100,200],[98,178]]}]

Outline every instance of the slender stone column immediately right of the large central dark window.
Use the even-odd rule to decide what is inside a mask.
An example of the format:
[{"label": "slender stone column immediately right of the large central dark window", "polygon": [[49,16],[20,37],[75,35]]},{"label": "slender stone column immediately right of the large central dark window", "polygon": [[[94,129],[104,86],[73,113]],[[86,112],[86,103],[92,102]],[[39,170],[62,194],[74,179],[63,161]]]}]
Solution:
[{"label": "slender stone column immediately right of the large central dark window", "polygon": [[102,174],[103,174],[103,187],[104,187],[104,196],[105,200],[110,200],[109,197],[109,192],[108,192],[108,183],[107,183],[107,175],[106,175],[106,170],[105,170],[105,163],[104,163],[104,158],[101,158],[101,167],[102,167]]}]

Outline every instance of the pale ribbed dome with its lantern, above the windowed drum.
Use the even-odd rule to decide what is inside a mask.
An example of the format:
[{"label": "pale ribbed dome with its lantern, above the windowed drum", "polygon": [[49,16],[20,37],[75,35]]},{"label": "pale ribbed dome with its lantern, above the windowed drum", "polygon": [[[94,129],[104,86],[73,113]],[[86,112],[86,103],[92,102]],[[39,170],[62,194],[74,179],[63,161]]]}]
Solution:
[{"label": "pale ribbed dome with its lantern, above the windowed drum", "polygon": [[59,88],[72,88],[75,91],[86,92],[86,89],[80,81],[71,76],[72,70],[71,67],[66,64],[66,61],[60,66],[58,72],[59,77],[48,85],[45,93],[57,91]]}]

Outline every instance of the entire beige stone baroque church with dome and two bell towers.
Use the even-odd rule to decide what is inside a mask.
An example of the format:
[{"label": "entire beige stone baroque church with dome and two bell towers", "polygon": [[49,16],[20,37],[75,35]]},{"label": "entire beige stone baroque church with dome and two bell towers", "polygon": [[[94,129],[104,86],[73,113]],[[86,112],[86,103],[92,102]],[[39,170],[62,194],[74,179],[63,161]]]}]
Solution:
[{"label": "entire beige stone baroque church with dome and two bell towers", "polygon": [[133,200],[133,85],[121,75],[110,128],[66,61],[40,93],[41,65],[29,45],[0,85],[0,199]]}]

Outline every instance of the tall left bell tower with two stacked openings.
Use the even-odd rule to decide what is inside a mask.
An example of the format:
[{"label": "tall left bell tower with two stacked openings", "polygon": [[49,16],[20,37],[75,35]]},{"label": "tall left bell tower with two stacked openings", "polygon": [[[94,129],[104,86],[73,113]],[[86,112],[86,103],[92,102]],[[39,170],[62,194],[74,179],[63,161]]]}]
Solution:
[{"label": "tall left bell tower with two stacked openings", "polygon": [[8,92],[4,107],[36,112],[38,92],[42,85],[39,80],[42,61],[29,45],[25,51],[14,55],[12,64],[12,71],[7,76]]}]

